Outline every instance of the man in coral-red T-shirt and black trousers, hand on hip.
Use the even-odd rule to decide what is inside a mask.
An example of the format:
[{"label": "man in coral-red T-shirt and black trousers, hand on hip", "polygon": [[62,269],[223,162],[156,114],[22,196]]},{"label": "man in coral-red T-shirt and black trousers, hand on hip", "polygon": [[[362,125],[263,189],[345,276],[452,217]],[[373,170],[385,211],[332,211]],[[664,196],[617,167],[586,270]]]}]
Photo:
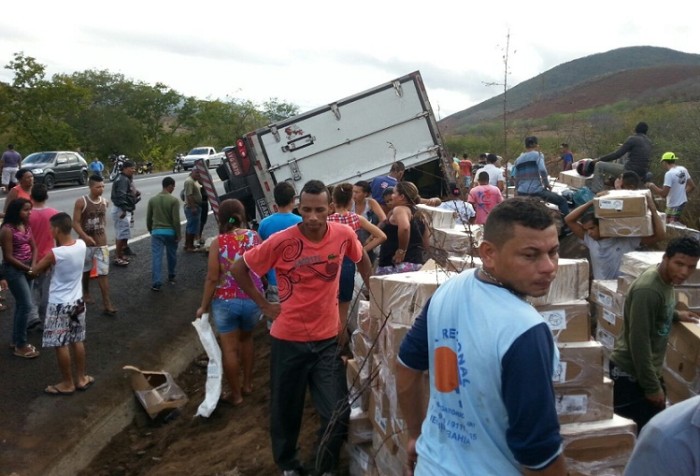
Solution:
[{"label": "man in coral-red T-shirt and black trousers, hand on hip", "polygon": [[[328,223],[328,190],[323,182],[304,185],[302,222],[270,236],[233,265],[241,289],[273,319],[270,335],[270,436],[275,463],[287,475],[302,474],[297,440],[309,387],[321,420],[313,458],[314,474],[335,469],[347,429],[349,406],[338,334],[338,284],[343,258],[357,263],[365,280],[370,261],[352,229]],[[249,271],[277,274],[279,303],[268,302]]]}]

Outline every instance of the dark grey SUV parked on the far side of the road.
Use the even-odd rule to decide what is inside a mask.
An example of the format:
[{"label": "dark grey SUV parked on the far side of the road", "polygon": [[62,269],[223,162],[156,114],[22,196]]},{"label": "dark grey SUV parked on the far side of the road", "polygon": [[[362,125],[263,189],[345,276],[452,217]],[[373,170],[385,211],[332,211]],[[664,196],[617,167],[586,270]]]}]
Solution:
[{"label": "dark grey SUV parked on the far side of the road", "polygon": [[43,183],[49,190],[57,183],[85,185],[89,175],[87,161],[71,151],[34,152],[25,157],[22,167],[30,169],[34,181]]}]

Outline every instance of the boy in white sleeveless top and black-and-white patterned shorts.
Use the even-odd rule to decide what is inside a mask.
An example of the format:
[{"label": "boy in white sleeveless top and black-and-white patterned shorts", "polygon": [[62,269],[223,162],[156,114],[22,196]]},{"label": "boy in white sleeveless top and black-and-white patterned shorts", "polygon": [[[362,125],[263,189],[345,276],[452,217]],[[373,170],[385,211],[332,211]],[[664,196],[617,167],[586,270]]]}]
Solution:
[{"label": "boy in white sleeveless top and black-and-white patterned shorts", "polygon": [[[75,390],[87,390],[95,379],[85,373],[85,302],[83,301],[83,263],[85,242],[71,236],[70,215],[57,213],[50,219],[51,235],[58,246],[53,248],[29,274],[41,274],[54,267],[49,287],[49,307],[44,323],[43,347],[54,347],[61,381],[49,385],[49,395],[72,395]],[[73,379],[71,351],[75,358],[76,378]]]}]

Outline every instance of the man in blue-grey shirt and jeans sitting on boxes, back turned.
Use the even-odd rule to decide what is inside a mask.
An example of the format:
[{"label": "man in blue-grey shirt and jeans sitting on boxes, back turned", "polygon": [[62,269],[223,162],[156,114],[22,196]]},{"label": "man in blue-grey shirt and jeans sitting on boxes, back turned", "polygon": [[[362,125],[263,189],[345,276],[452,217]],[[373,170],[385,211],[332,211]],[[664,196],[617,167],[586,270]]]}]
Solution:
[{"label": "man in blue-grey shirt and jeans sitting on boxes, back turned", "polygon": [[537,137],[525,138],[525,152],[515,159],[513,178],[518,195],[540,197],[555,204],[562,215],[569,214],[569,204],[564,197],[552,192],[549,174],[544,165],[544,155],[539,151]]}]

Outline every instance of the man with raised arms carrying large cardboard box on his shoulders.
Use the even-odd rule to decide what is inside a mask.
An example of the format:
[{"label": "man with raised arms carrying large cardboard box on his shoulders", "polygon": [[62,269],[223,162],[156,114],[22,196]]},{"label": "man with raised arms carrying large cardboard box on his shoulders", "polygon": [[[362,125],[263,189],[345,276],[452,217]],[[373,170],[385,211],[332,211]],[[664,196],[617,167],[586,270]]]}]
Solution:
[{"label": "man with raised arms carrying large cardboard box on his shoulders", "polygon": [[664,224],[657,213],[654,200],[647,200],[647,208],[651,212],[654,234],[644,237],[600,236],[599,220],[593,213],[593,200],[575,208],[564,217],[564,222],[571,232],[588,248],[593,279],[617,279],[625,253],[636,250],[640,245],[652,245],[666,237]]}]

